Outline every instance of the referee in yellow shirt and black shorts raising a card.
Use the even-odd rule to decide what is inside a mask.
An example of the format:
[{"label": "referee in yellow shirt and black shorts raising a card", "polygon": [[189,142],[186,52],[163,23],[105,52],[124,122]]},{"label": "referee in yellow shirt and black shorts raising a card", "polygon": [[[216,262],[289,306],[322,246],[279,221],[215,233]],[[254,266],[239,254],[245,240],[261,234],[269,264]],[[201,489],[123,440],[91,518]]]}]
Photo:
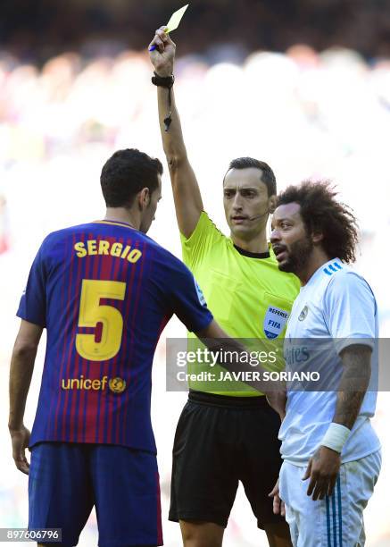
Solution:
[{"label": "referee in yellow shirt and black shorts raising a card", "polygon": [[[267,243],[267,220],[276,201],[274,173],[268,164],[249,157],[230,163],[221,185],[230,237],[223,235],[203,211],[188,161],[171,89],[175,45],[162,28],[150,46],[156,46],[150,52],[153,81],[184,261],[229,335],[281,337],[299,282],[279,272]],[[200,366],[196,364],[197,370]],[[273,514],[268,497],[281,465],[278,415],[245,383],[236,383],[233,391],[221,383],[212,393],[205,383],[192,382],[190,387],[173,447],[170,501],[170,520],[180,522],[184,544],[221,545],[241,481],[270,545],[290,545],[286,521]]]}]

